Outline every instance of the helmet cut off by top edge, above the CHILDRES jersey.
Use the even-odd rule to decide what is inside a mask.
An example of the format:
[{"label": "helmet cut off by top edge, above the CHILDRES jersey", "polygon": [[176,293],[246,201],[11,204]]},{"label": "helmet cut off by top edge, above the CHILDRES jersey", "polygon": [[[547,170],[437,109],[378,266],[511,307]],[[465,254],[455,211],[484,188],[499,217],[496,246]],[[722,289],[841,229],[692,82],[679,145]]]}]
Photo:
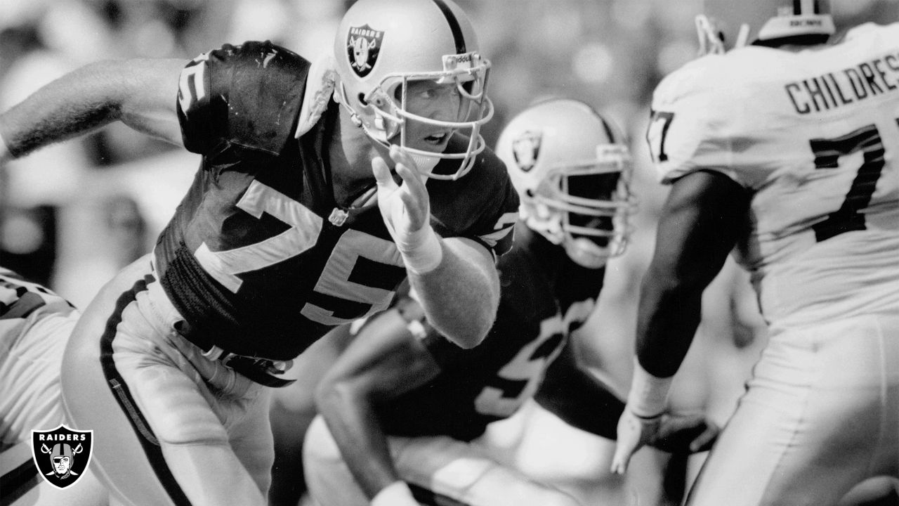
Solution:
[{"label": "helmet cut off by top edge, above the CHILDRES jersey", "polygon": [[787,37],[826,41],[836,31],[829,0],[703,0],[696,28],[700,55]]}]

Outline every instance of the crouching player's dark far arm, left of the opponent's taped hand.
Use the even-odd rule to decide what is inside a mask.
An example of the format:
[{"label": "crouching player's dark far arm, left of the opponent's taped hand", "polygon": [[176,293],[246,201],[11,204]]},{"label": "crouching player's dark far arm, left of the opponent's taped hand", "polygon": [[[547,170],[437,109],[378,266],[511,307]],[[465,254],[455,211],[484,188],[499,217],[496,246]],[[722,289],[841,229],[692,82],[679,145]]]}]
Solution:
[{"label": "crouching player's dark far arm, left of the opponent's taped hand", "polygon": [[534,400],[568,425],[612,440],[624,411],[610,385],[578,366],[571,341],[547,368]]}]

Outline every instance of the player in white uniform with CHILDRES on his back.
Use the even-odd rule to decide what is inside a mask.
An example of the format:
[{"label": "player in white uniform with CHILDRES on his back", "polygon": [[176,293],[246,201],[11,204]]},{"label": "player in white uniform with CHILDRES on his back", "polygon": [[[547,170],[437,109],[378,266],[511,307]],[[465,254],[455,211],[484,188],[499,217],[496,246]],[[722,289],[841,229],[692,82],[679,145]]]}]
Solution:
[{"label": "player in white uniform with CHILDRES on his back", "polygon": [[647,140],[672,188],[612,467],[657,429],[734,250],[770,342],[687,503],[833,504],[899,472],[899,24],[840,38],[823,1],[706,6],[746,24],[700,17],[715,54],[655,90]]}]

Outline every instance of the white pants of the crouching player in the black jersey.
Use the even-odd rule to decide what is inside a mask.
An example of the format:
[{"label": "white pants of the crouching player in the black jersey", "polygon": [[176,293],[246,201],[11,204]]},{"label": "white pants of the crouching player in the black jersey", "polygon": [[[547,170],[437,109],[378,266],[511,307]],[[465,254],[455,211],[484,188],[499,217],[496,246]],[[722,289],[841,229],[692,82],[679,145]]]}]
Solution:
[{"label": "white pants of the crouching player in the black jersey", "polygon": [[[387,438],[400,476],[432,504],[458,506],[578,506],[573,497],[538,483],[491,458],[485,447],[436,436]],[[312,422],[303,445],[303,468],[321,506],[367,506],[368,498],[343,462],[325,420]],[[449,499],[449,501],[447,501]]]}]

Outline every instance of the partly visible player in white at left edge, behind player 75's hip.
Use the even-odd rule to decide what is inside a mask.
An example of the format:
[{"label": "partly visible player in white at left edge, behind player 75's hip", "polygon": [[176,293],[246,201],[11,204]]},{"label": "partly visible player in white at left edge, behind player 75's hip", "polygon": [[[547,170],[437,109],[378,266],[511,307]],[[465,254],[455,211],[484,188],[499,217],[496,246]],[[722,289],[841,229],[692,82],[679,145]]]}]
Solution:
[{"label": "partly visible player in white at left edge, behind player 75's hip", "polygon": [[105,504],[90,469],[58,489],[31,456],[31,430],[65,422],[59,367],[80,312],[44,286],[0,267],[0,504]]}]

